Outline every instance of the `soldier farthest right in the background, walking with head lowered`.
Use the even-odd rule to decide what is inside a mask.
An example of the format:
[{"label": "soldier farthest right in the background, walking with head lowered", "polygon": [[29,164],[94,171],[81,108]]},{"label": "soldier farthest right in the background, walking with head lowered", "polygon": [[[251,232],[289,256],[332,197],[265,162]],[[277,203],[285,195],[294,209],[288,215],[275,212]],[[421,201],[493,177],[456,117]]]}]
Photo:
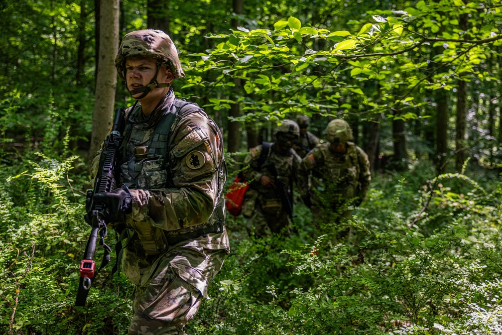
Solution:
[{"label": "soldier farthest right in the background, walking with head lowered", "polygon": [[366,153],[350,142],[352,131],[343,120],[333,120],[325,130],[326,143],[302,159],[298,170],[298,189],[311,207],[314,224],[350,214],[347,205],[360,205],[371,180]]}]

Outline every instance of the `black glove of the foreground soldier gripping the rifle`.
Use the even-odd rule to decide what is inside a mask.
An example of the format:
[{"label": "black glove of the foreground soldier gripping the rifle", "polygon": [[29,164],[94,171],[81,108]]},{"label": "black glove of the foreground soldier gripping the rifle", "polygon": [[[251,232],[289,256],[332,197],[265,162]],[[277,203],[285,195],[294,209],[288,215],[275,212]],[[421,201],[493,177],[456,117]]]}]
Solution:
[{"label": "black glove of the foreground soldier gripping the rifle", "polygon": [[133,211],[133,197],[126,185],[113,190],[112,192],[101,192],[94,194],[94,201],[100,201],[106,205],[106,212],[103,219],[106,224],[115,222],[122,214],[131,214]]}]

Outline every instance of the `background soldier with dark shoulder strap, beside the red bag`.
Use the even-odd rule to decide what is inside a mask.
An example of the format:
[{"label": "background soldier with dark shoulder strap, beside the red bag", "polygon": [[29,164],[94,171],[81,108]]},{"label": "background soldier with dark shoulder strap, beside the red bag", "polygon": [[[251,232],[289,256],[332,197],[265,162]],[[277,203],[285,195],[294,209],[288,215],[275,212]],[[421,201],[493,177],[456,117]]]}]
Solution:
[{"label": "background soldier with dark shoulder strap, beside the red bag", "polygon": [[242,214],[247,228],[262,237],[283,232],[290,236],[289,219],[293,217],[293,183],[300,157],[292,149],[300,130],[296,122],[282,121],[274,130],[276,141],[264,142],[249,151],[242,176],[249,181]]}]

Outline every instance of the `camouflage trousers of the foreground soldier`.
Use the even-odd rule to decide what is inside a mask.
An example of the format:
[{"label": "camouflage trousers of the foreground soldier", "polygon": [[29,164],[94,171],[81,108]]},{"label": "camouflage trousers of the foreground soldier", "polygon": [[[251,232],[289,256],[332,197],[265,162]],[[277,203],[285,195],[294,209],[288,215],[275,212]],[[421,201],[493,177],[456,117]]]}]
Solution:
[{"label": "camouflage trousers of the foreground soldier", "polygon": [[[226,251],[220,250],[209,258],[204,268],[208,285],[221,268],[225,255]],[[183,327],[197,313],[204,297],[178,275],[172,260],[166,257],[149,283],[136,287],[128,335],[186,335]]]}]

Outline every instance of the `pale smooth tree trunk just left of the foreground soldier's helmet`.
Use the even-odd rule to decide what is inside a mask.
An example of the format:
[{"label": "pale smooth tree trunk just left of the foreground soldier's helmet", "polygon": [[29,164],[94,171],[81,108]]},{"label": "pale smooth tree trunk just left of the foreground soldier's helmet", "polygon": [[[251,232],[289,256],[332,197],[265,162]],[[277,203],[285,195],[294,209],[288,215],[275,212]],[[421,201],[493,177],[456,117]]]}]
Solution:
[{"label": "pale smooth tree trunk just left of the foreground soldier's helmet", "polygon": [[89,158],[94,157],[98,151],[112,122],[117,84],[115,56],[118,51],[118,3],[119,0],[101,2],[99,68],[96,75]]}]

